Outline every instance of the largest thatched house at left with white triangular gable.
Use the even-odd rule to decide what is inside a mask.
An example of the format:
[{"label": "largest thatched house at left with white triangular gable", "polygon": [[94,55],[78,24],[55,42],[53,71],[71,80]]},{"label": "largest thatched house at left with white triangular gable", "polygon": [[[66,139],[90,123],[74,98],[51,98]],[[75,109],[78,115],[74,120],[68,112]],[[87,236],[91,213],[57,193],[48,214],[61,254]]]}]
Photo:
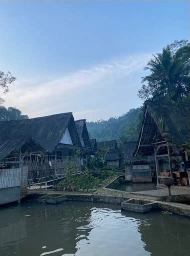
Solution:
[{"label": "largest thatched house at left with white triangular gable", "polygon": [[59,160],[61,168],[71,156],[75,156],[72,159],[78,167],[83,165],[81,142],[72,112],[0,121],[0,160],[6,167],[32,162],[36,167],[36,162],[40,162],[47,165],[47,169]]}]

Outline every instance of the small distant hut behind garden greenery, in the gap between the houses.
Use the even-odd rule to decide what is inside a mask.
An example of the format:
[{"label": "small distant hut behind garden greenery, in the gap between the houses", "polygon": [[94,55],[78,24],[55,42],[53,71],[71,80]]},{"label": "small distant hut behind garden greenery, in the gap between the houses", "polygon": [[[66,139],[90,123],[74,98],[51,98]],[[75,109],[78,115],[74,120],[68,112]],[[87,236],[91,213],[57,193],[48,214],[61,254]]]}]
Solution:
[{"label": "small distant hut behind garden greenery, in the gap between the houses", "polygon": [[120,166],[120,150],[119,148],[109,149],[105,154],[105,161],[107,166]]}]

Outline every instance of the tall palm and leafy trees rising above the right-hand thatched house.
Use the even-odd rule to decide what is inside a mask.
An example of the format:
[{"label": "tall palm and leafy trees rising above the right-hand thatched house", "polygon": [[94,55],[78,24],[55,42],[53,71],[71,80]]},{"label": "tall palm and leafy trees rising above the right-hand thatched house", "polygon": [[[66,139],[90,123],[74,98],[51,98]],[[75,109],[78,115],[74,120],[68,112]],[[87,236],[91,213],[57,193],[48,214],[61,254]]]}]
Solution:
[{"label": "tall palm and leafy trees rising above the right-hand thatched house", "polygon": [[144,68],[151,74],[142,77],[140,98],[178,100],[187,97],[190,92],[190,43],[176,40],[153,56]]}]

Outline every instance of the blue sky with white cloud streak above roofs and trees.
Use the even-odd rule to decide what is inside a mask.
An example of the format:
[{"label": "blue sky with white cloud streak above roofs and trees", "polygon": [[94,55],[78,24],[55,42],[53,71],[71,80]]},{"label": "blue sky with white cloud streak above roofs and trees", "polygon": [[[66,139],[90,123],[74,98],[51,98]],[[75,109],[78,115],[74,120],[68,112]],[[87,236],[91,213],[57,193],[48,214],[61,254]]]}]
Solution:
[{"label": "blue sky with white cloud streak above roofs and trees", "polygon": [[0,1],[0,70],[16,77],[4,106],[29,117],[88,121],[142,105],[152,53],[189,39],[188,1]]}]

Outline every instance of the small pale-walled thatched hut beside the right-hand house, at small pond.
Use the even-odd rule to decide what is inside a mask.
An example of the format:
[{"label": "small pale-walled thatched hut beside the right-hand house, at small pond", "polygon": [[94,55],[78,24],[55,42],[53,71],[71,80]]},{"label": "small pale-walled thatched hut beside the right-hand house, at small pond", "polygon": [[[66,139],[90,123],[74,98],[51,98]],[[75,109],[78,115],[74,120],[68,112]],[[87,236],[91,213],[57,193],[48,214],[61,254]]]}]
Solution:
[{"label": "small pale-walled thatched hut beside the right-hand house, at small pond", "polygon": [[124,168],[126,181],[152,182],[155,165],[151,156],[134,156],[137,141],[124,143]]}]

